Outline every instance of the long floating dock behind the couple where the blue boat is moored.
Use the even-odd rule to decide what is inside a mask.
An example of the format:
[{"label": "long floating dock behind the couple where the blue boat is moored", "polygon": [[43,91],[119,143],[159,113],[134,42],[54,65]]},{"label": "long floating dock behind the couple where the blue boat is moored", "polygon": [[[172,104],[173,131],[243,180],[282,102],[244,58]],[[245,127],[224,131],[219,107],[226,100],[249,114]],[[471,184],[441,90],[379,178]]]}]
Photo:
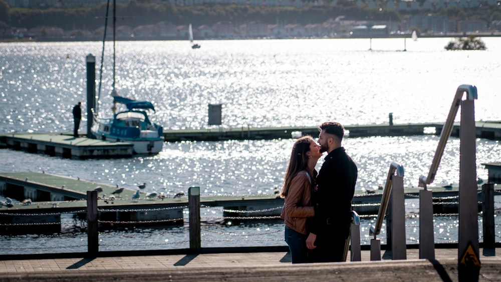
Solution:
[{"label": "long floating dock behind the couple where the blue boat is moored", "polygon": [[[476,122],[476,136],[501,140],[501,122]],[[443,124],[347,125],[350,137],[439,135]],[[240,127],[210,129],[164,130],[166,142],[271,140],[297,138],[301,135],[318,136],[318,127]],[[452,136],[459,136],[459,123],[455,123]],[[11,148],[30,153],[46,154],[71,159],[128,158],[133,145],[127,142],[109,142],[85,137],[75,138],[69,133],[19,133],[0,135],[0,148]]]}]

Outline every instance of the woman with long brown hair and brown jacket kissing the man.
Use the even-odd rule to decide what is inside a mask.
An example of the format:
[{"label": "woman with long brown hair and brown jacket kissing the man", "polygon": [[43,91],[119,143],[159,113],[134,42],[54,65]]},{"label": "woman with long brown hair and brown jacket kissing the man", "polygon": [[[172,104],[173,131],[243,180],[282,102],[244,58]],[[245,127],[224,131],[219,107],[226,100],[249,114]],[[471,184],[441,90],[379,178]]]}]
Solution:
[{"label": "woman with long brown hair and brown jacket kissing the man", "polygon": [[321,156],[320,145],[311,136],[301,137],[294,143],[285,173],[280,193],[285,198],[281,217],[286,225],[285,241],[291,250],[292,263],[308,262],[306,220],[315,215],[311,195],[317,178],[315,165]]}]

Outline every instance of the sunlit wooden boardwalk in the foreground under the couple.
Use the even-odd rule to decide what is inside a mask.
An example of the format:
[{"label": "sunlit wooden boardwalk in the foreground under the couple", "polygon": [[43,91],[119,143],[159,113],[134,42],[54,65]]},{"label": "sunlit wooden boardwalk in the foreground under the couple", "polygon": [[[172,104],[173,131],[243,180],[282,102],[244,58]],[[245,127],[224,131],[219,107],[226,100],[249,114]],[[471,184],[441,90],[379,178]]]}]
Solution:
[{"label": "sunlit wooden boardwalk in the foreground under the couple", "polygon": [[[501,281],[501,249],[480,249],[479,281]],[[484,254],[486,253],[486,255]],[[288,252],[204,253],[0,260],[0,281],[458,281],[457,249],[436,260],[291,264]]]}]

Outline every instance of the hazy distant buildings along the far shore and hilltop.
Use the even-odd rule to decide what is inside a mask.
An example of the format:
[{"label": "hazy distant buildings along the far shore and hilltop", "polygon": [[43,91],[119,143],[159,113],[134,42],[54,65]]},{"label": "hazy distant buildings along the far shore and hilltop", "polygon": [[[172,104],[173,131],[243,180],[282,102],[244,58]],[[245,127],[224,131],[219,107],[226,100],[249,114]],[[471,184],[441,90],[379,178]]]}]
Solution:
[{"label": "hazy distant buildings along the far shore and hilltop", "polygon": [[[104,0],[6,0],[10,7],[82,7],[97,6],[106,3]],[[117,3],[128,3],[129,0],[116,0]],[[398,11],[432,11],[447,7],[475,8],[499,6],[501,0],[353,0],[354,5],[361,8]],[[209,5],[248,5],[271,7],[302,7],[304,5],[337,5],[337,0],[150,0],[154,4],[170,4],[172,6],[209,6]],[[489,8],[490,9],[490,8]],[[496,8],[498,9],[498,8]],[[500,10],[501,11],[501,10]],[[344,16],[330,19],[324,23],[308,25],[262,22],[232,23],[221,21],[212,26],[193,27],[196,39],[212,38],[309,38],[309,37],[387,37],[393,34],[410,34],[418,30],[421,34],[453,34],[477,31],[496,31],[501,29],[500,21],[487,23],[483,20],[450,20],[445,16],[432,13],[420,16],[409,16],[402,21],[353,21]],[[138,27],[117,27],[117,38],[124,39],[187,39],[188,27],[176,26],[168,22]],[[26,30],[10,28],[0,31],[0,38],[82,38],[82,40],[102,39],[104,27],[95,31],[62,31],[56,28],[39,28]],[[108,30],[107,34],[112,35]]]}]

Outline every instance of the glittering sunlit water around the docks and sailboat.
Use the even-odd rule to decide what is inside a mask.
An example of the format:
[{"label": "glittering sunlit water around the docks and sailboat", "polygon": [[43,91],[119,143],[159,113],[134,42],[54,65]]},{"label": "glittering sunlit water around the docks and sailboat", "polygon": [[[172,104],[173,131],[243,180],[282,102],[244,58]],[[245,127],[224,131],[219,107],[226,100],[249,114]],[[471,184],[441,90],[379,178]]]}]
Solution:
[{"label": "glittering sunlit water around the docks and sailboat", "polygon": [[[497,83],[501,38],[482,38],[487,51],[445,51],[450,40],[204,41],[198,50],[179,41],[118,42],[116,87],[122,96],[152,101],[154,120],[168,129],[217,129],[207,125],[208,104],[222,104],[221,127],[225,128],[317,126],[329,120],[345,125],[387,124],[389,113],[395,124],[443,123],[461,84],[478,89],[475,120],[501,120]],[[111,46],[107,42],[102,116],[111,114]],[[71,132],[72,107],[83,101],[86,111],[85,57],[96,56],[99,79],[101,49],[99,42],[0,43],[0,133]],[[86,117],[80,129],[86,129]],[[383,184],[392,161],[404,166],[404,185],[417,187],[419,175],[427,174],[438,139],[433,135],[346,138],[343,145],[359,167],[356,188]],[[156,156],[115,160],[69,160],[6,149],[0,150],[0,172],[45,171],[128,188],[146,182],[146,192],[170,195],[186,192],[189,186],[200,186],[206,195],[270,194],[281,187],[293,142],[165,143]],[[499,161],[501,146],[499,141],[476,142],[477,176],[486,179],[481,163]],[[451,138],[433,184],[458,182],[459,140]],[[418,239],[418,218],[410,215],[416,205],[406,202],[408,242]],[[217,218],[222,211],[204,209],[202,216]],[[436,217],[435,222],[435,241],[457,240],[457,217]],[[366,219],[363,224],[364,239],[373,222]],[[280,222],[207,224],[202,230],[206,247],[285,245]],[[112,232],[102,234],[101,249],[187,247],[187,236],[185,227]],[[78,232],[4,236],[0,248],[22,242],[27,249],[15,252],[61,251],[59,246],[69,241],[72,246],[83,244],[80,249],[86,250],[87,239]],[[41,242],[48,249],[40,248]]]}]

